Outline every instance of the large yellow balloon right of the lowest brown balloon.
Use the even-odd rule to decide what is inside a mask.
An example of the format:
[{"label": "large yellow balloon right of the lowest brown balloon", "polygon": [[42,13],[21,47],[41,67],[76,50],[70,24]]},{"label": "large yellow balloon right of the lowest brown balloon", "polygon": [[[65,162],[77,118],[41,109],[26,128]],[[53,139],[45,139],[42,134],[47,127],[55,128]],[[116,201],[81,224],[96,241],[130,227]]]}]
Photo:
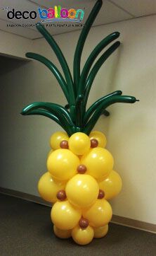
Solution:
[{"label": "large yellow balloon right of the lowest brown balloon", "polygon": [[89,209],[84,209],[82,216],[89,220],[91,226],[98,228],[110,222],[112,208],[105,199],[97,199]]}]

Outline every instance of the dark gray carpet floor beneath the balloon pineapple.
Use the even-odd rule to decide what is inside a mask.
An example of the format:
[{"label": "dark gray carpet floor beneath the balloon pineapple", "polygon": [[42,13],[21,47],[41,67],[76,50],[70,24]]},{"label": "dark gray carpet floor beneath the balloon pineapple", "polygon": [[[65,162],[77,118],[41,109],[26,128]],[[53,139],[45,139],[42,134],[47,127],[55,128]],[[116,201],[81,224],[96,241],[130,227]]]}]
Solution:
[{"label": "dark gray carpet floor beneath the balloon pineapple", "polygon": [[156,235],[110,223],[105,238],[89,245],[53,235],[48,206],[0,194],[0,256],[156,256]]}]

